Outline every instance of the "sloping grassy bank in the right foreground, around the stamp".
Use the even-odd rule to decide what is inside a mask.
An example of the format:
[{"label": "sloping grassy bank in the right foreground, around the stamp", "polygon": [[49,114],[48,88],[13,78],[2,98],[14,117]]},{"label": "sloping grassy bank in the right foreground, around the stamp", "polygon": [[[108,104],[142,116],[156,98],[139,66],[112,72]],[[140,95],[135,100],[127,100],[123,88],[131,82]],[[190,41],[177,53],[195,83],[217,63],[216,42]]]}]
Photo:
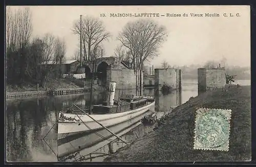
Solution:
[{"label": "sloping grassy bank in the right foreground, around the stamp", "polygon": [[[212,90],[177,107],[156,131],[104,161],[241,161],[251,158],[250,86]],[[229,151],[194,150],[197,108],[231,109]],[[150,136],[156,136],[148,138]]]}]

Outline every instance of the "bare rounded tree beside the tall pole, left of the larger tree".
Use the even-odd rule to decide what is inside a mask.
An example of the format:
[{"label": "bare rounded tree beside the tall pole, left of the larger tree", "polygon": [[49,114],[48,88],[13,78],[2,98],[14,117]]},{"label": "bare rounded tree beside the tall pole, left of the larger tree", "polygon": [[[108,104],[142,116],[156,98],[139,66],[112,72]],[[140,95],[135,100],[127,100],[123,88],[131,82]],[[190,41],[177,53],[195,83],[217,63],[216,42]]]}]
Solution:
[{"label": "bare rounded tree beside the tall pole, left of the larger tree", "polygon": [[73,25],[73,33],[82,34],[82,50],[83,57],[86,61],[92,61],[93,50],[99,44],[110,37],[110,33],[105,31],[103,22],[94,17],[83,17],[81,22],[82,30],[80,30],[80,20],[75,21]]}]

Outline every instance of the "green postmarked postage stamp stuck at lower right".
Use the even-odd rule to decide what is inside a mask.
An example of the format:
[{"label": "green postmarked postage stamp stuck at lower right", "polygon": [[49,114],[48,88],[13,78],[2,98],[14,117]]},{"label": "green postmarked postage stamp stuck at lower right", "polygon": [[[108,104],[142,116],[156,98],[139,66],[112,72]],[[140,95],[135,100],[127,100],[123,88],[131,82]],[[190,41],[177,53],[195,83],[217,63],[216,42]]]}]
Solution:
[{"label": "green postmarked postage stamp stuck at lower right", "polygon": [[228,151],[231,110],[196,111],[194,149]]}]

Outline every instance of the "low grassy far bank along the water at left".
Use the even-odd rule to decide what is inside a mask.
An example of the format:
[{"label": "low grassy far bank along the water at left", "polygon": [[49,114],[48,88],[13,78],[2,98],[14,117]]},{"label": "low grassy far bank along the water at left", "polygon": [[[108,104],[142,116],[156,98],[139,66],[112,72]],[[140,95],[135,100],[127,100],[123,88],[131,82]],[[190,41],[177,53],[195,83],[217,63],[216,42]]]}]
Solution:
[{"label": "low grassy far bank along the water at left", "polygon": [[[84,86],[85,85],[85,86]],[[91,82],[90,80],[81,80],[81,79],[49,79],[47,82],[47,87],[49,89],[70,89],[70,88],[81,88],[84,87],[85,91],[90,91],[91,89]],[[94,90],[99,90],[100,86],[94,84]],[[22,92],[22,91],[36,91],[37,85],[36,84],[29,84],[24,83],[22,85],[7,85],[6,91],[7,92]],[[46,90],[44,87],[39,87],[39,90]]]}]

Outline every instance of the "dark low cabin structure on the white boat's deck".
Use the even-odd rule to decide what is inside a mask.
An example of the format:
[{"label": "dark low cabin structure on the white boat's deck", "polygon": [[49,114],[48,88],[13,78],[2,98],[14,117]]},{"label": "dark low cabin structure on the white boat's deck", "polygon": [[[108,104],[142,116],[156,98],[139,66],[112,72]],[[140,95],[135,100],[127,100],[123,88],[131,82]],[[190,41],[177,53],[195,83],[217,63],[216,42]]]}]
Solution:
[{"label": "dark low cabin structure on the white boat's deck", "polygon": [[118,101],[114,101],[114,105],[104,102],[100,105],[93,106],[94,114],[118,113],[135,110],[147,105],[147,99],[134,96],[133,94],[122,94]]}]

